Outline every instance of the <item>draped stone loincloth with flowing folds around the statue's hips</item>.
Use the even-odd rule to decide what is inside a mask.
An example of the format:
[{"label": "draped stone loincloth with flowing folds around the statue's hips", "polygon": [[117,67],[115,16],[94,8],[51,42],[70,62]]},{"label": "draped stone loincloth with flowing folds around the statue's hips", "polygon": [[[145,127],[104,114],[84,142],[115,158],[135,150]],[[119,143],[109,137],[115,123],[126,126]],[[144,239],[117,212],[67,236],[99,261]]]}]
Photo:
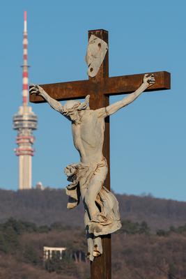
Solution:
[{"label": "draped stone loincloth with flowing folds around the statue's hips", "polygon": [[[105,158],[100,163],[84,164],[77,163],[65,167],[65,174],[68,176],[70,185],[66,187],[66,194],[68,195],[68,209],[73,209],[79,204],[81,190],[88,189],[93,176],[96,171],[102,167],[107,167]],[[114,194],[107,188],[102,186],[98,193],[95,203],[98,204],[99,215],[94,220],[90,220],[88,224],[88,232],[95,236],[103,234],[111,234],[121,228],[120,214],[118,211],[118,201]],[[85,208],[86,211],[86,208]]]}]

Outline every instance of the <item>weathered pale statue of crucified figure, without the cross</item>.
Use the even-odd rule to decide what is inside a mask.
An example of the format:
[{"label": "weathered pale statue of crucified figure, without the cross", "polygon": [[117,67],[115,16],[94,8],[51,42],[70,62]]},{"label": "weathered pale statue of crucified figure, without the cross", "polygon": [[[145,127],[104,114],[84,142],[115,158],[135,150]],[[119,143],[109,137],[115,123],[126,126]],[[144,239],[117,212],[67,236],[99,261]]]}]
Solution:
[{"label": "weathered pale statue of crucified figure, without the cross", "polygon": [[107,176],[107,160],[102,154],[104,142],[104,118],[114,114],[121,107],[132,103],[144,90],[155,83],[154,75],[144,75],[144,82],[139,89],[112,105],[91,110],[88,106],[90,96],[84,103],[68,100],[62,105],[51,98],[42,87],[31,84],[31,94],[42,96],[49,105],[60,112],[72,123],[72,135],[75,148],[79,151],[80,162],[65,167],[70,185],[66,187],[69,196],[68,209],[79,203],[82,195],[84,202],[84,223],[88,240],[88,257],[102,254],[101,237],[116,232],[121,227],[116,197],[104,188]]}]

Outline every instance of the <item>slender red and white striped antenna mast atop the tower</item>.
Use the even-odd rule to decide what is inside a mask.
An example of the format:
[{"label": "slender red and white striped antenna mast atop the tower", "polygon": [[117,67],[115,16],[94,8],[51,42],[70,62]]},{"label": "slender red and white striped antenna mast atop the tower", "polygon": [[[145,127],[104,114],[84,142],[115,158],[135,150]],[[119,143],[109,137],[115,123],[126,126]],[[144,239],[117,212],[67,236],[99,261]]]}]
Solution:
[{"label": "slender red and white striped antenna mast atop the tower", "polygon": [[28,105],[29,96],[29,74],[28,74],[28,35],[27,35],[27,19],[26,11],[24,11],[24,33],[23,33],[23,66],[22,66],[22,103]]}]

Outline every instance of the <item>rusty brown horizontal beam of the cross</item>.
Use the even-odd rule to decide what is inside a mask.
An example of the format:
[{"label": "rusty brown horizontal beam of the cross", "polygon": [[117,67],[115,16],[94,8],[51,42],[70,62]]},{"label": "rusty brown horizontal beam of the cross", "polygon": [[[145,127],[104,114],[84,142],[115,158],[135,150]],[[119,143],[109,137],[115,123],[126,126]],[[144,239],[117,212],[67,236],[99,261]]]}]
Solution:
[{"label": "rusty brown horizontal beam of the cross", "polygon": [[[146,91],[164,90],[171,88],[170,73],[166,71],[155,72],[155,84]],[[119,77],[106,77],[102,84],[92,80],[79,80],[76,82],[59,82],[55,84],[40,84],[45,91],[56,100],[70,100],[84,98],[86,95],[102,91],[106,96],[132,93],[143,82],[143,74],[123,75]],[[36,95],[30,96],[31,103],[44,103],[45,100]]]}]

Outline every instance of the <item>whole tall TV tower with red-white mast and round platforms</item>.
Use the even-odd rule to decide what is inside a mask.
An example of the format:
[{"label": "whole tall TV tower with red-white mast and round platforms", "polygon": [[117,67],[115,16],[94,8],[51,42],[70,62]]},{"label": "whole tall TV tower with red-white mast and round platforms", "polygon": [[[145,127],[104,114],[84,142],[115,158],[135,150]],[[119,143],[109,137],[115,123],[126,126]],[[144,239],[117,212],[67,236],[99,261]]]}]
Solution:
[{"label": "whole tall TV tower with red-white mast and round platforms", "polygon": [[22,66],[22,106],[13,116],[13,128],[17,130],[17,149],[15,154],[19,157],[19,189],[31,189],[31,160],[34,153],[33,130],[37,129],[38,118],[28,105],[29,79],[28,79],[28,39],[26,11],[24,12],[24,38],[23,38],[23,66]]}]

